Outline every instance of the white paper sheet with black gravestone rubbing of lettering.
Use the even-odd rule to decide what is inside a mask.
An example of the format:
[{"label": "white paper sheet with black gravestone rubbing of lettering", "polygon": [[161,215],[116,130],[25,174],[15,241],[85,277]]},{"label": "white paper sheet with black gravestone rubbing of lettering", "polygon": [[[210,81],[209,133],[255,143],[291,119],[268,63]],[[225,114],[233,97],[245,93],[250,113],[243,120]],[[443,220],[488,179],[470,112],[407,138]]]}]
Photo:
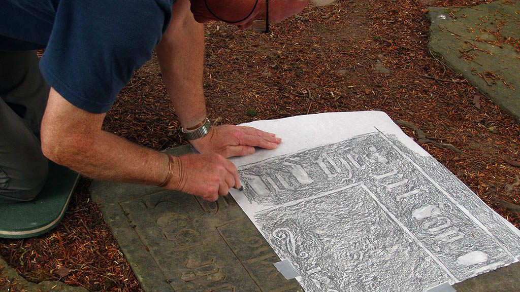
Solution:
[{"label": "white paper sheet with black gravestone rubbing of lettering", "polygon": [[231,194],[307,292],[426,291],[520,255],[520,232],[383,112],[244,125],[283,141],[232,159]]}]

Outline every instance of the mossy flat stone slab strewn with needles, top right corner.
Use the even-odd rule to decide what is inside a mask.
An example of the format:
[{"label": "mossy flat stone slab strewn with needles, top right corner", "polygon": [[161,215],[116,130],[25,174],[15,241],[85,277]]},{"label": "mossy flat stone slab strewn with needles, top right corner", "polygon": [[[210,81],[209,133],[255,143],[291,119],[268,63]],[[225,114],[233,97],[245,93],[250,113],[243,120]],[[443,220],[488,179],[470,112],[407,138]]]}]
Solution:
[{"label": "mossy flat stone slab strewn with needles, top right corner", "polygon": [[431,54],[520,122],[520,1],[428,10]]}]

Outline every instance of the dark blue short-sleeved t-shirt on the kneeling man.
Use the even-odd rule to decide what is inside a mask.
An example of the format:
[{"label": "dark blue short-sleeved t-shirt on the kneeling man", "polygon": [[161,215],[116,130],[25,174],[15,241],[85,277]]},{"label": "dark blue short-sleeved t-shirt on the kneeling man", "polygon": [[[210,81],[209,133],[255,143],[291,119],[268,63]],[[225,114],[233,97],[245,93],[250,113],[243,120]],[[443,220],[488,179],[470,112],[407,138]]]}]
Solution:
[{"label": "dark blue short-sleeved t-shirt on the kneeling man", "polygon": [[175,0],[3,0],[0,49],[45,47],[46,81],[76,107],[107,112],[152,56]]}]

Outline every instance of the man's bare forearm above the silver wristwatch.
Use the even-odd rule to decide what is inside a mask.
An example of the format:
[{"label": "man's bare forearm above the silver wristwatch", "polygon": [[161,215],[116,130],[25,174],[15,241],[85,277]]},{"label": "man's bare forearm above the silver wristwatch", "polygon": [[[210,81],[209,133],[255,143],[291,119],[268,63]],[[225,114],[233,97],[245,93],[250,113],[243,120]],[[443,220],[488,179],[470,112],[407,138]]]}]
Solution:
[{"label": "man's bare forearm above the silver wristwatch", "polygon": [[174,4],[172,22],[156,51],[181,125],[189,128],[199,124],[206,116],[202,88],[204,25],[193,19],[188,0]]}]

